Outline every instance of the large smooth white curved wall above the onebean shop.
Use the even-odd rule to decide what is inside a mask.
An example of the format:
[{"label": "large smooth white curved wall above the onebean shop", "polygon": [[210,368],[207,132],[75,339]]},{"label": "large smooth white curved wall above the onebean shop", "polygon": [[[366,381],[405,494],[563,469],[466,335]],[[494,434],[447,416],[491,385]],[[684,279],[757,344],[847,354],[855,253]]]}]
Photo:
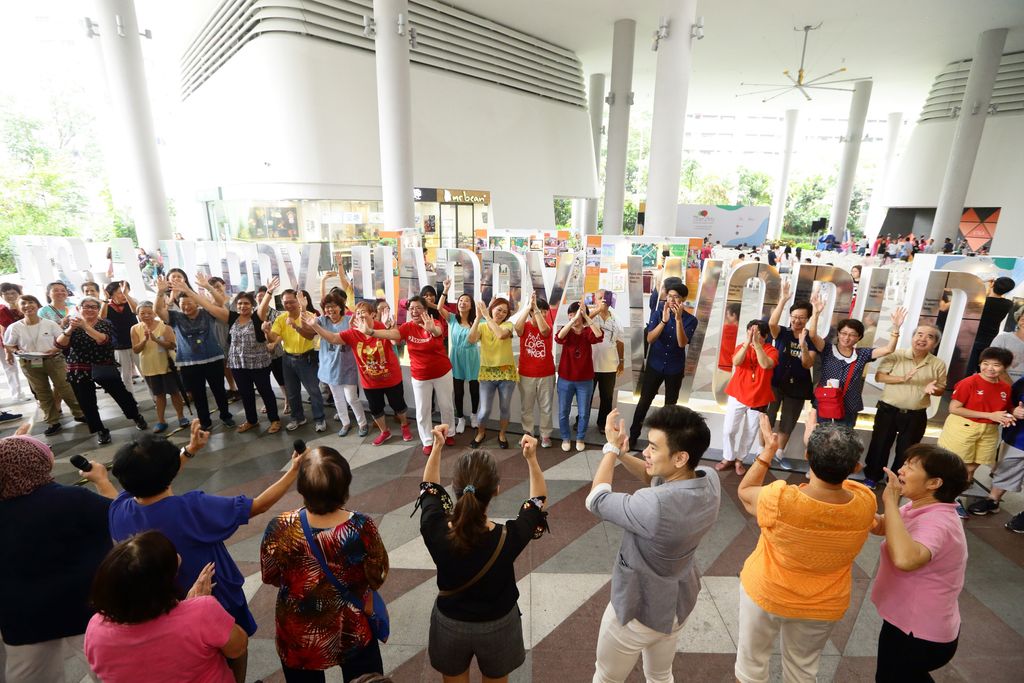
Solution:
[{"label": "large smooth white curved wall above the onebean shop", "polygon": [[[490,190],[498,228],[552,227],[554,197],[597,196],[585,110],[416,66],[412,87],[416,185]],[[381,198],[371,52],[263,36],[182,111],[197,196]]]}]

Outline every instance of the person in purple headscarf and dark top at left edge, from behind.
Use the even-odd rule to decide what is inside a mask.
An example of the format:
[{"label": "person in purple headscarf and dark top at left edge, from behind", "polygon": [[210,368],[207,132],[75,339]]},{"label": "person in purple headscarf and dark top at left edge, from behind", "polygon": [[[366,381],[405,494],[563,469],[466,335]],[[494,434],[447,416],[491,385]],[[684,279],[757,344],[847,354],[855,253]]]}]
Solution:
[{"label": "person in purple headscarf and dark top at left edge, from behind", "polygon": [[29,428],[0,439],[0,636],[8,681],[62,681],[67,654],[85,661],[89,587],[111,549],[117,492],[98,463],[81,474],[99,496],[53,481],[53,453]]}]

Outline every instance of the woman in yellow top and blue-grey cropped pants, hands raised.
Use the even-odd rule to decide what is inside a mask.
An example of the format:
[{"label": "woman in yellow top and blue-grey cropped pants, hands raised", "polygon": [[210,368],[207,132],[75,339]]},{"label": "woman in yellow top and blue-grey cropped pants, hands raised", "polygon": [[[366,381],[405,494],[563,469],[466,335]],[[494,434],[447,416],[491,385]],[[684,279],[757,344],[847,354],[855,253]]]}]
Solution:
[{"label": "woman in yellow top and blue-grey cropped pants, hands raised", "polygon": [[512,414],[512,393],[519,383],[519,371],[512,357],[511,304],[508,299],[499,297],[492,299],[489,306],[478,301],[476,310],[484,324],[469,333],[470,344],[480,342],[480,408],[476,414],[476,438],[472,446],[479,449],[486,438],[487,429],[483,423],[490,416],[490,403],[497,393],[501,411],[498,445],[507,449],[509,442],[505,430]]}]

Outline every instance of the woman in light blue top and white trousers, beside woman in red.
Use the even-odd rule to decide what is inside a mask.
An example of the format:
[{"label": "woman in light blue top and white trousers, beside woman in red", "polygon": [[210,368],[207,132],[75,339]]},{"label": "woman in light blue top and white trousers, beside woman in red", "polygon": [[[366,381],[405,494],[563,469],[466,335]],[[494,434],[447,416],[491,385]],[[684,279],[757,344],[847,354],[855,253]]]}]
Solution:
[{"label": "woman in light blue top and white trousers, beside woman in red", "polygon": [[[344,314],[347,303],[348,295],[343,290],[328,294],[321,301],[324,315],[317,317],[316,323],[328,332],[344,332],[352,322],[351,315]],[[352,409],[355,422],[359,425],[359,436],[366,436],[370,432],[370,425],[367,422],[366,411],[362,410],[362,401],[359,400],[359,372],[355,367],[355,356],[352,355],[351,349],[345,344],[332,344],[326,338],[321,339],[321,365],[316,377],[331,388],[331,395],[334,396],[334,404],[338,409],[338,417],[341,418],[338,436],[346,436],[352,429],[352,422],[345,408],[346,402]]]}]

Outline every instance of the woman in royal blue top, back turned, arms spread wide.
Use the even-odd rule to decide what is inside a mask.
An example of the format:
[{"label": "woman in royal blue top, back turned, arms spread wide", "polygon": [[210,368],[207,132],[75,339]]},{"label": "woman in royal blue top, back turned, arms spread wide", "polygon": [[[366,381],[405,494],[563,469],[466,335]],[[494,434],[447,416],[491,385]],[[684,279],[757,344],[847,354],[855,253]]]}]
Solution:
[{"label": "woman in royal blue top, back turned, arms spread wide", "polygon": [[[184,301],[184,298],[182,298]],[[178,581],[182,589],[196,583],[210,562],[214,564],[213,597],[252,636],[256,621],[242,590],[245,578],[231,559],[224,541],[242,524],[269,510],[291,488],[305,454],[293,453],[288,471],[256,498],[209,496],[189,490],[175,496],[171,483],[181,466],[210,439],[210,433],[191,423],[188,445],[178,449],[163,436],[143,434],[114,456],[112,472],[124,492],[111,503],[111,537],[120,543],[130,536],[157,529],[171,540],[181,556]],[[236,679],[245,680],[248,653],[228,659]]]}]

